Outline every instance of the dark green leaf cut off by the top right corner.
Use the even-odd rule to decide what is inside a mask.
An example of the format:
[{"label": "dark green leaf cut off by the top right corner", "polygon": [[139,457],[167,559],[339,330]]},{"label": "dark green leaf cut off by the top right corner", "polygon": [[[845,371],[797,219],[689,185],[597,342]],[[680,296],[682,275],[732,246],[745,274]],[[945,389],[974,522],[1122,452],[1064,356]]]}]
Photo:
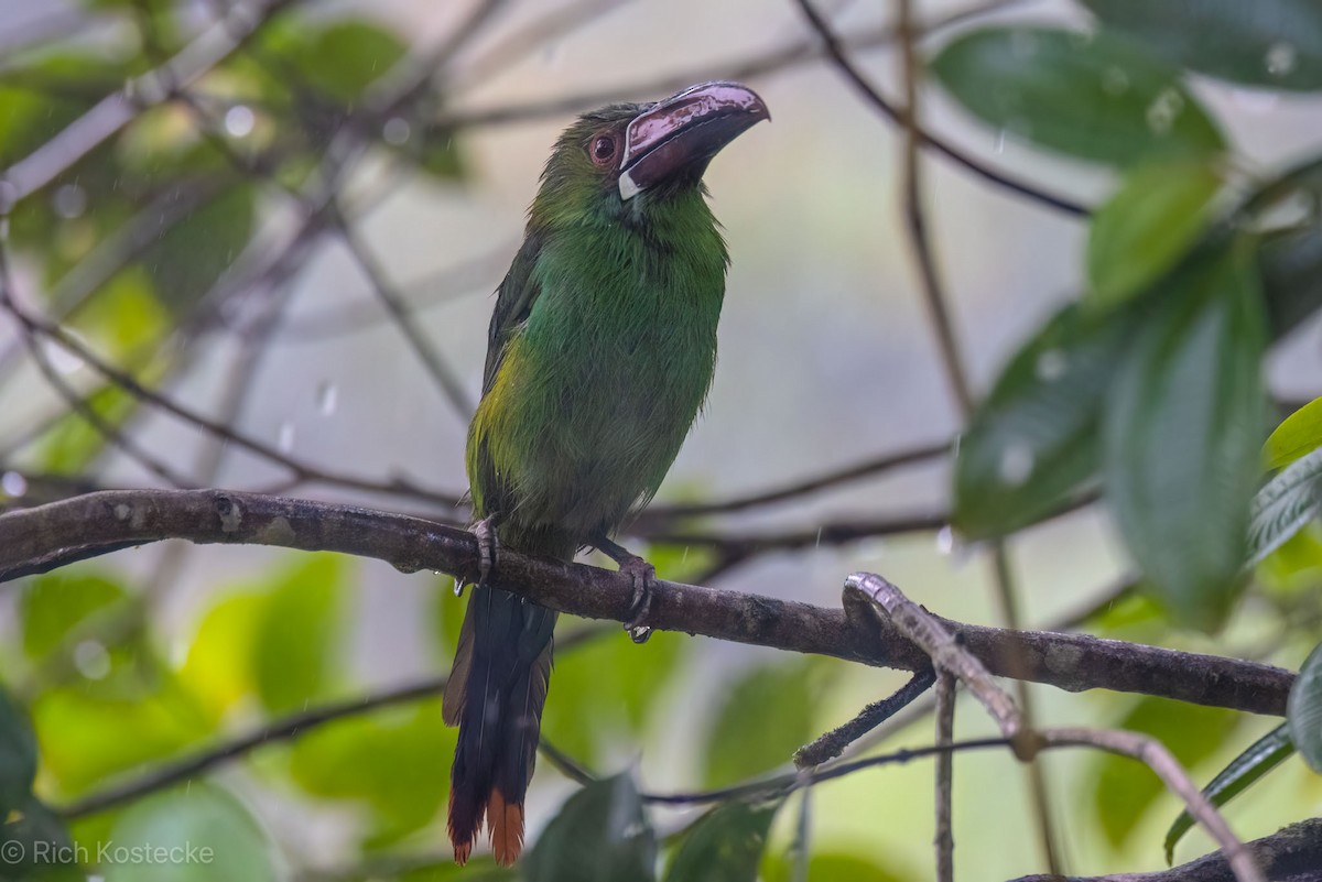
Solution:
[{"label": "dark green leaf cut off by the top right corner", "polygon": [[1108,28],[1163,58],[1251,86],[1322,88],[1317,0],[1083,0]]}]

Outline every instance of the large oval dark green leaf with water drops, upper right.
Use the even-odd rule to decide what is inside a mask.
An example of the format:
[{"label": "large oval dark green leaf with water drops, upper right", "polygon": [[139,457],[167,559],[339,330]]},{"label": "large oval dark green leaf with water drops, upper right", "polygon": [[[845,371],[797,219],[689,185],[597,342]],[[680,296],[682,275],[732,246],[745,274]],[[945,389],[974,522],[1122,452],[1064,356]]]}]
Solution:
[{"label": "large oval dark green leaf with water drops, upper right", "polygon": [[984,28],[931,67],[984,121],[1081,160],[1126,166],[1225,148],[1175,67],[1105,33]]}]

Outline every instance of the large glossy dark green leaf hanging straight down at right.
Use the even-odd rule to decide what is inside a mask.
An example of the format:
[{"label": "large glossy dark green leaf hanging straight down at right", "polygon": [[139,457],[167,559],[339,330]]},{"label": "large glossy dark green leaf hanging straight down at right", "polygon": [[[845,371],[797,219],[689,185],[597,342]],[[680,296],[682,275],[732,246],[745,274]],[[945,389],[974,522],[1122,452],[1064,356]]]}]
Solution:
[{"label": "large glossy dark green leaf hanging straight down at right", "polygon": [[1177,622],[1216,627],[1241,584],[1265,417],[1265,329],[1251,255],[1188,261],[1161,292],[1107,401],[1120,532]]}]

